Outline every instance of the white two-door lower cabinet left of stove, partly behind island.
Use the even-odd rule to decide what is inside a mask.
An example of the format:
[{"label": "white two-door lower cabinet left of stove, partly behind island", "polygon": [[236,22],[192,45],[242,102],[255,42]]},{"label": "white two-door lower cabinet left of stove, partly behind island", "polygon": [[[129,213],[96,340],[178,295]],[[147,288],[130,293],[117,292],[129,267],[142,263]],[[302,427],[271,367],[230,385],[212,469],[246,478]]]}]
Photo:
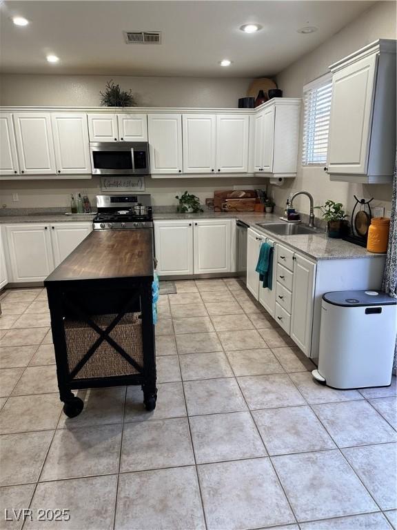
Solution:
[{"label": "white two-door lower cabinet left of stove, partly behind island", "polygon": [[91,230],[88,222],[7,225],[8,280],[43,282]]}]

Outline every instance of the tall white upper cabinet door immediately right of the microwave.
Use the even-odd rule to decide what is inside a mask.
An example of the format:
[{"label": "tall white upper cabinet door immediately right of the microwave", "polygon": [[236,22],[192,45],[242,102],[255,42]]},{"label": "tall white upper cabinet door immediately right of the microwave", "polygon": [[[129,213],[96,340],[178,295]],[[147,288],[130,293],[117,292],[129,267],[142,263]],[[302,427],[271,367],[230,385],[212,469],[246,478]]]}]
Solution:
[{"label": "tall white upper cabinet door immediately right of the microwave", "polygon": [[182,116],[180,114],[147,115],[150,149],[150,173],[182,173]]}]

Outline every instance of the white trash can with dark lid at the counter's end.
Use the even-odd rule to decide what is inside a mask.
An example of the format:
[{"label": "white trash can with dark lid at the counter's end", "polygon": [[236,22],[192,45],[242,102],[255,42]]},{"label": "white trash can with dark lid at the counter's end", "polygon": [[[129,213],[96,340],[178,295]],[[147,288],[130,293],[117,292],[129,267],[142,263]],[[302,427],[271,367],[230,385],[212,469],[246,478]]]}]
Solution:
[{"label": "white trash can with dark lid at the counter's end", "polygon": [[325,293],[312,375],[334,389],[389,386],[396,335],[396,298],[381,291]]}]

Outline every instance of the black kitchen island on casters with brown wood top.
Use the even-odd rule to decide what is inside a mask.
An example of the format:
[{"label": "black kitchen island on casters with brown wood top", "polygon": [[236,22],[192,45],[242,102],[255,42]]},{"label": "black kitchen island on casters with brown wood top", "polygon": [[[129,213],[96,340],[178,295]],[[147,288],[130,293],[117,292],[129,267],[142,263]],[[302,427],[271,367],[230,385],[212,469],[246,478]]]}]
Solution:
[{"label": "black kitchen island on casters with brown wood top", "polygon": [[70,418],[72,389],[141,384],[156,406],[152,229],[94,230],[45,279],[59,397]]}]

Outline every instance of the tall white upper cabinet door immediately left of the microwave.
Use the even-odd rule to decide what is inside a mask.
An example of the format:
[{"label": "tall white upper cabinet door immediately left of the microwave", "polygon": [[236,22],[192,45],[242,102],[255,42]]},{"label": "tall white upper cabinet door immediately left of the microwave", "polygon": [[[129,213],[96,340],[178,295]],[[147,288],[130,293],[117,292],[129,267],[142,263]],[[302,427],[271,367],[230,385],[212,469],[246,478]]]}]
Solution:
[{"label": "tall white upper cabinet door immediately left of the microwave", "polygon": [[86,114],[52,114],[57,174],[91,173]]}]

